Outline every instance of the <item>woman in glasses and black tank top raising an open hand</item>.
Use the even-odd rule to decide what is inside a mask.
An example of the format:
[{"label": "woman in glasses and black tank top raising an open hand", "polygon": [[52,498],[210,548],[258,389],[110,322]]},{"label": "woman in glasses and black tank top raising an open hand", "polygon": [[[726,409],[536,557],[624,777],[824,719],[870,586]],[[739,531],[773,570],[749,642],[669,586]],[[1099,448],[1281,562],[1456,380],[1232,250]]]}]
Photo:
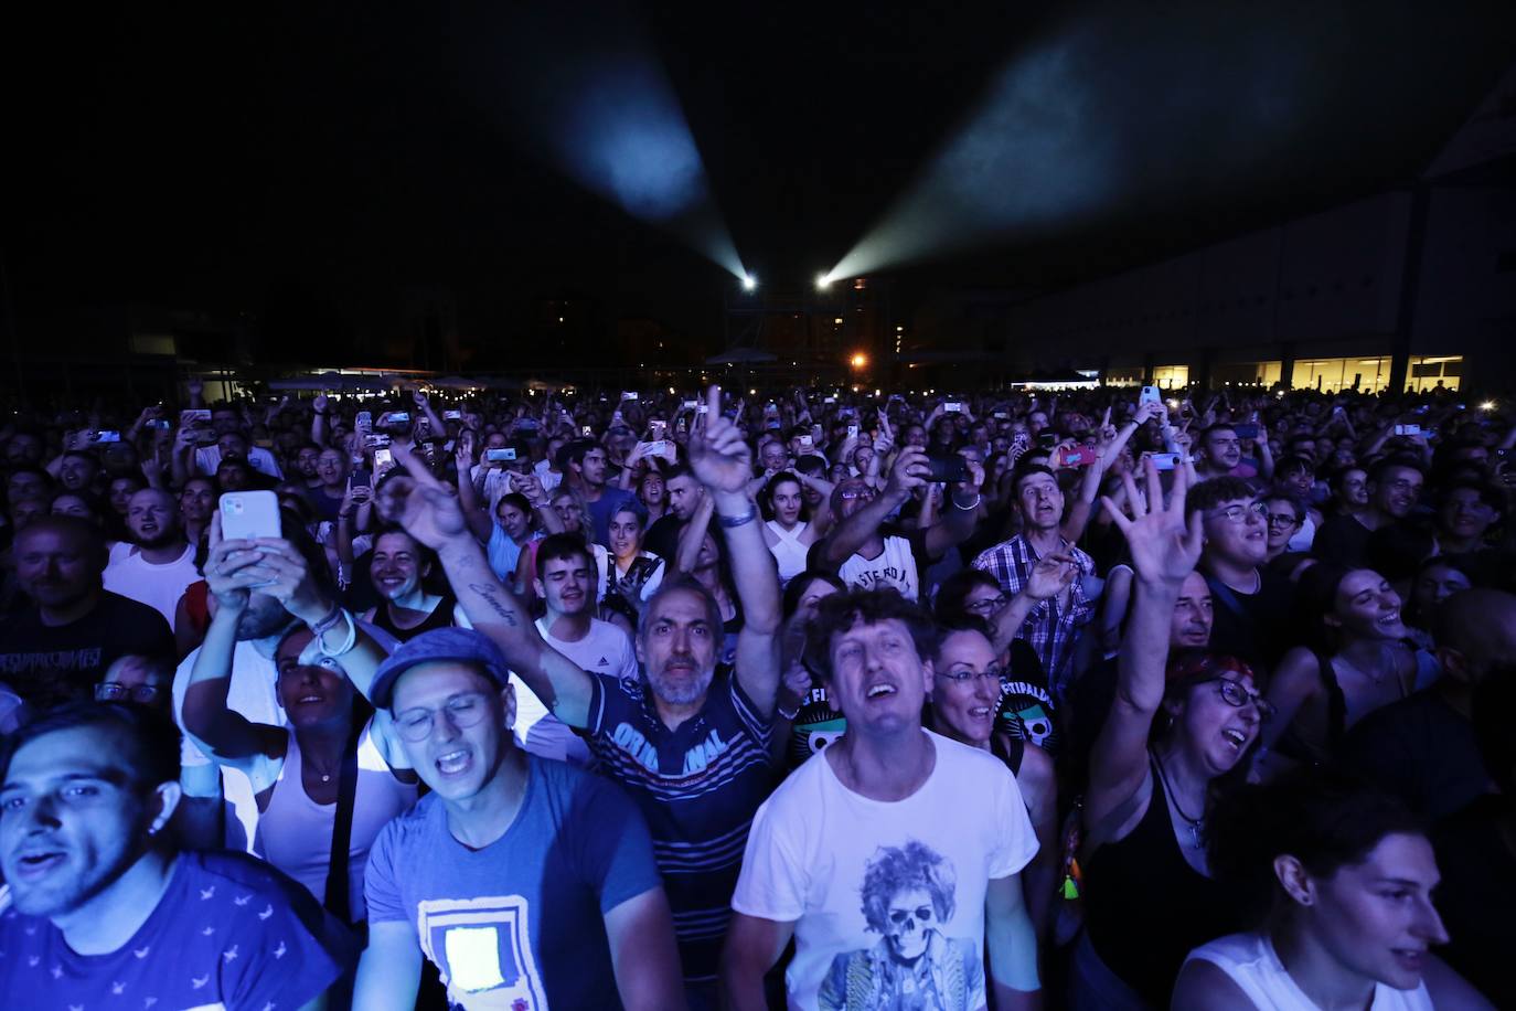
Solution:
[{"label": "woman in glasses and black tank top raising an open hand", "polygon": [[1169,656],[1202,518],[1186,518],[1184,471],[1167,506],[1152,461],[1146,477],[1146,496],[1123,479],[1132,518],[1104,500],[1131,549],[1134,585],[1084,794],[1087,931],[1073,956],[1075,1009],[1167,1006],[1190,949],[1243,926],[1234,888],[1211,878],[1205,843],[1214,797],[1246,775],[1267,703],[1246,664],[1204,650]]}]

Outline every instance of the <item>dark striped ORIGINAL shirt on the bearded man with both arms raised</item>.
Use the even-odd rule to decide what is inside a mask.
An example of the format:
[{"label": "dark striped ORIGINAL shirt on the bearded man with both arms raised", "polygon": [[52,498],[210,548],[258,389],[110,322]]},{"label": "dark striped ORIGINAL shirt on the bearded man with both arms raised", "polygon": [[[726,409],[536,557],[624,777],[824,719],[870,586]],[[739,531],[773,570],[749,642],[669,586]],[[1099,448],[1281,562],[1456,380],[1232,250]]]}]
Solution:
[{"label": "dark striped ORIGINAL shirt on the bearded man with both arms raised", "polygon": [[775,785],[772,718],[719,668],[705,706],[670,731],[640,681],[593,676],[590,750],[641,808],[688,982],[716,979],[747,828]]}]

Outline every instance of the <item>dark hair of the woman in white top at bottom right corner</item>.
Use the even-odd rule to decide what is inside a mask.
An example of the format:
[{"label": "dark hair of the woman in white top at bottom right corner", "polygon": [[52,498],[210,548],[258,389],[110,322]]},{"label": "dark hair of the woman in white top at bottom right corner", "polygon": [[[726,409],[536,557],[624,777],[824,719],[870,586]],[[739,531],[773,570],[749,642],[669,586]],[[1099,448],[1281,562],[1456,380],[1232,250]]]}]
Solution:
[{"label": "dark hair of the woman in white top at bottom right corner", "polygon": [[1261,914],[1283,899],[1276,856],[1293,856],[1313,878],[1361,864],[1387,835],[1424,835],[1402,800],[1331,767],[1304,767],[1263,785],[1239,784],[1216,796],[1210,856]]}]

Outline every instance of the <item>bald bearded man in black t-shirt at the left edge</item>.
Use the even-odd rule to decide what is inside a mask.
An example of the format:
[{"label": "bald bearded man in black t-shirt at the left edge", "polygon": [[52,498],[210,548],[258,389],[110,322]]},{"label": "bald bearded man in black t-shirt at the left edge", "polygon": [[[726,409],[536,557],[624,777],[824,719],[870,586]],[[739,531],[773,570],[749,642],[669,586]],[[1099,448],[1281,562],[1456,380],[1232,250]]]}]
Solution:
[{"label": "bald bearded man in black t-shirt at the left edge", "polygon": [[32,606],[0,624],[0,681],[33,709],[89,697],[126,653],[174,655],[158,611],[102,585],[106,550],[94,524],[38,517],[17,534],[14,556]]}]

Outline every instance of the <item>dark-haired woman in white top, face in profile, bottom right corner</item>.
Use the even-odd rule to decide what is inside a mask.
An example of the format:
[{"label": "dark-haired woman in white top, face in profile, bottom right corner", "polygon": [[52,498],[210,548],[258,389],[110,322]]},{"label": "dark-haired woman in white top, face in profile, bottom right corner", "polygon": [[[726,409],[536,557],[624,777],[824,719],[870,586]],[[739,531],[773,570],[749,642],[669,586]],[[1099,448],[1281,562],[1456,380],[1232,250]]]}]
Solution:
[{"label": "dark-haired woman in white top, face in profile, bottom right corner", "polygon": [[1393,797],[1322,770],[1237,790],[1211,862],[1261,897],[1263,925],[1196,947],[1175,1011],[1492,1008],[1428,949],[1437,861]]}]

